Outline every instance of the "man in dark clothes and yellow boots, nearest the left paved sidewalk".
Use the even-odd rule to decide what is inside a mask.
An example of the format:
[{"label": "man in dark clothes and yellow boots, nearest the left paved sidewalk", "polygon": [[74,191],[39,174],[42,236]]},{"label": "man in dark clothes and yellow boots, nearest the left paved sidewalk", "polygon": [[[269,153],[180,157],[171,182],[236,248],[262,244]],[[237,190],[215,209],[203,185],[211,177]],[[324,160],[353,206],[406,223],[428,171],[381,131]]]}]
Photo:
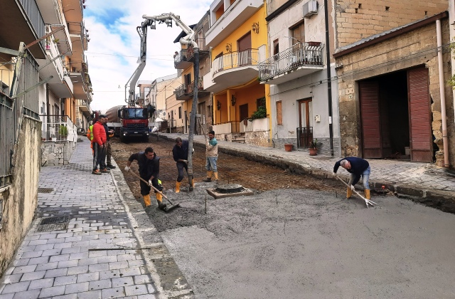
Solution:
[{"label": "man in dark clothes and yellow boots, nearest the left paved sidewalk", "polygon": [[[125,167],[125,171],[129,172],[130,166],[134,160],[137,160],[137,164],[139,165],[139,174],[141,177],[140,185],[141,185],[141,195],[144,196],[144,204],[145,206],[150,206],[150,189],[151,186],[155,187],[157,190],[161,192],[163,187],[161,186],[161,181],[158,179],[159,176],[159,157],[156,156],[156,153],[151,147],[147,147],[144,152],[137,152],[136,154],[132,154],[127,162],[127,166]],[[143,180],[144,181],[143,181]],[[146,184],[146,182],[149,184]],[[166,204],[163,203],[163,196],[160,192],[156,192],[156,201],[158,201],[158,207],[161,210],[166,209]]]}]

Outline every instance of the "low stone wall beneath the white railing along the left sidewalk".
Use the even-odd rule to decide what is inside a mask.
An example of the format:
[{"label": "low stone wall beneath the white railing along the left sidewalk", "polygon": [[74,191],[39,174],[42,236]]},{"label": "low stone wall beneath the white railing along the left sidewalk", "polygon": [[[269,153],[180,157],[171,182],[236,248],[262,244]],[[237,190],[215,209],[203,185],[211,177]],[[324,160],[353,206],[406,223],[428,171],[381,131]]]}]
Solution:
[{"label": "low stone wall beneath the white railing along the left sidewalk", "polygon": [[[87,143],[90,147],[90,143]],[[41,165],[54,166],[70,163],[70,158],[76,149],[76,142],[42,142],[41,143]]]}]

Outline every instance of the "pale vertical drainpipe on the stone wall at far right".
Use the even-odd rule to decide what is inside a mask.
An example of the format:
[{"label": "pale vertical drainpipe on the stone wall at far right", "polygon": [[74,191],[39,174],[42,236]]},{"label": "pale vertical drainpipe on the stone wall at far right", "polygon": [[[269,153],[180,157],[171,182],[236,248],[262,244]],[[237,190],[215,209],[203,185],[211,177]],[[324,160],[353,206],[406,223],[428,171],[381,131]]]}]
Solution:
[{"label": "pale vertical drainpipe on the stone wall at far right", "polygon": [[450,167],[449,140],[447,138],[446,94],[444,93],[444,68],[442,64],[441,20],[436,20],[436,36],[438,46],[439,93],[441,97],[442,143],[444,145],[444,167]]}]

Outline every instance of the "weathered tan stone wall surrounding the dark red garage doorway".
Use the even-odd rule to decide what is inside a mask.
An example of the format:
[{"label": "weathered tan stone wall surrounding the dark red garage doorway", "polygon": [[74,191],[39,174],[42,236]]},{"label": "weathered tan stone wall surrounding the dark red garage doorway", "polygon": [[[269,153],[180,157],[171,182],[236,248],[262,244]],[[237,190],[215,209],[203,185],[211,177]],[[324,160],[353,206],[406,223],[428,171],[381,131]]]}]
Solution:
[{"label": "weathered tan stone wall surrounding the dark red garage doorway", "polygon": [[[449,43],[449,22],[441,20],[442,44]],[[444,51],[443,61],[450,61],[449,51]],[[437,164],[444,161],[441,132],[441,97],[439,92],[439,71],[437,59],[436,24],[417,28],[395,38],[390,38],[373,46],[360,49],[354,53],[338,58],[337,63],[343,65],[338,70],[338,90],[340,107],[340,131],[342,156],[358,156],[360,148],[360,103],[358,99],[358,80],[385,75],[397,70],[407,70],[425,65],[429,70],[429,95],[431,100],[432,130],[435,143],[439,146]],[[444,63],[444,83],[451,77],[451,68]],[[446,98],[446,115],[449,135],[449,159],[455,161],[455,126],[454,98],[451,88],[444,86]]]}]

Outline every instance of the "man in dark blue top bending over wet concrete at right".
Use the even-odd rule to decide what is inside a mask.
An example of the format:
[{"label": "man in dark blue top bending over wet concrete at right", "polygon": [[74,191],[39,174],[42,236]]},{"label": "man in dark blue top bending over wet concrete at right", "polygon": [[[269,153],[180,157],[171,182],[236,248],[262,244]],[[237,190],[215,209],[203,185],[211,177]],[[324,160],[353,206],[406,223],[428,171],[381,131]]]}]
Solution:
[{"label": "man in dark blue top bending over wet concrete at right", "polygon": [[349,187],[346,194],[346,198],[349,199],[353,195],[353,190],[355,190],[354,185],[362,177],[363,190],[365,192],[365,198],[370,199],[370,185],[368,184],[368,179],[370,178],[370,164],[368,161],[358,158],[358,157],[346,157],[335,163],[333,167],[333,175],[336,175],[338,167],[343,167],[350,173]]}]

